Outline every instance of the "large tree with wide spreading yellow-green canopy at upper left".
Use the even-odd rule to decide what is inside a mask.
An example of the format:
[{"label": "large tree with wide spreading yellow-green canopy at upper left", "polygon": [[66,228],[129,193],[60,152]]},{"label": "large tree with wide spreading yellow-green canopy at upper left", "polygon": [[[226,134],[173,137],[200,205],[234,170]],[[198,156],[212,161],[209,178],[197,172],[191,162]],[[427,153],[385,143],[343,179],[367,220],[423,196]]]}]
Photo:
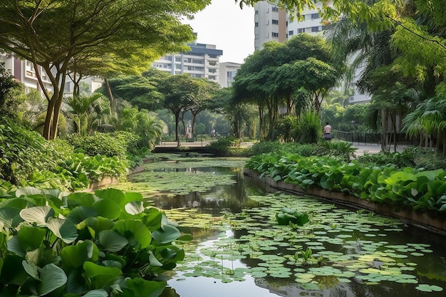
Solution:
[{"label": "large tree with wide spreading yellow-green canopy at upper left", "polygon": [[54,139],[73,58],[93,53],[113,58],[124,47],[150,48],[159,55],[175,51],[194,38],[190,26],[182,25],[177,16],[190,17],[207,4],[207,0],[2,1],[0,48],[31,61],[36,69],[40,65],[51,80],[53,92],[48,93],[42,73],[36,73],[48,100],[43,136]]}]

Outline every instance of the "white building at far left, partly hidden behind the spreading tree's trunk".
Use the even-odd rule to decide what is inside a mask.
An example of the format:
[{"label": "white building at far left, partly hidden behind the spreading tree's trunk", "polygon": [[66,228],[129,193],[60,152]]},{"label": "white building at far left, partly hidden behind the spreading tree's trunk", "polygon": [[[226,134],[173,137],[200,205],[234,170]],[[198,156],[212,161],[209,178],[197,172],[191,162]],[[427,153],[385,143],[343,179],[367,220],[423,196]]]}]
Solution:
[{"label": "white building at far left, partly hidden behind the spreading tree's trunk", "polygon": [[17,81],[24,84],[26,93],[31,89],[42,90],[41,85],[37,80],[37,73],[41,75],[44,88],[50,92],[53,91],[51,80],[49,80],[48,75],[46,75],[46,72],[43,71],[41,66],[38,66],[36,69],[30,61],[21,60],[20,58],[16,58],[7,53],[0,53],[0,61],[4,63],[6,70],[9,71]]}]

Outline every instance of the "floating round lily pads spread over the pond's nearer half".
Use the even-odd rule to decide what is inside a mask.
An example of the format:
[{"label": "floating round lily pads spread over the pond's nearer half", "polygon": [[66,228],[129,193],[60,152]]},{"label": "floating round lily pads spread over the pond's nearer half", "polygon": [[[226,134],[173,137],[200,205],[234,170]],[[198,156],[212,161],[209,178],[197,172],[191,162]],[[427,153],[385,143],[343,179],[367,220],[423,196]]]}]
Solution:
[{"label": "floating round lily pads spread over the pond's nearer half", "polygon": [[[354,278],[368,285],[390,281],[419,291],[442,291],[435,282],[419,283],[430,264],[420,267],[413,259],[432,250],[422,242],[395,242],[393,237],[403,225],[398,220],[279,193],[249,199],[259,206],[241,214],[227,212],[221,220],[194,209],[167,212],[181,225],[221,230],[210,245],[185,247],[187,257],[177,268],[181,271],[177,280],[190,276],[222,282],[244,281],[247,276],[292,278],[304,290],[319,290]],[[308,224],[298,228],[278,224],[276,214],[284,207],[305,209]],[[191,219],[194,212],[197,217]],[[248,265],[234,268],[236,261]],[[442,271],[437,273],[440,279]]]}]

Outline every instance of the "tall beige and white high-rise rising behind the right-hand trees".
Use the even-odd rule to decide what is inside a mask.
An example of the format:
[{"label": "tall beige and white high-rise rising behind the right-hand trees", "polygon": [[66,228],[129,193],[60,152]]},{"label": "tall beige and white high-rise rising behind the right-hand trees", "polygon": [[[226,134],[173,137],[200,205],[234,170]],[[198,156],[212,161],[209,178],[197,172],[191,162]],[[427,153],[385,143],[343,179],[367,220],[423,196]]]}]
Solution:
[{"label": "tall beige and white high-rise rising behind the right-hand trees", "polygon": [[[305,9],[301,19],[291,19],[284,9],[270,4],[267,1],[260,1],[254,5],[254,48],[260,50],[267,41],[285,42],[289,38],[300,33],[323,36],[325,26],[321,23],[318,9],[322,8],[322,3],[317,2],[315,9]],[[359,75],[361,69],[356,71]],[[348,103],[368,103],[370,96],[361,93],[355,86],[353,95],[348,98]]]}]

